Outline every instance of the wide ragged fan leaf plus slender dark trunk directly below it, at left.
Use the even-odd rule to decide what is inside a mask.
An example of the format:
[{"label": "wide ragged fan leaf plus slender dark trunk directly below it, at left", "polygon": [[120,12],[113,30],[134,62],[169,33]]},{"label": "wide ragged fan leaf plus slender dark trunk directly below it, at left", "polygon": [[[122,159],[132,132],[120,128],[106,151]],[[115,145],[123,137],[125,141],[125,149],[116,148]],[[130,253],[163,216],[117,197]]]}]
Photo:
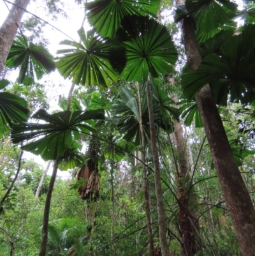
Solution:
[{"label": "wide ragged fan leaf plus slender dark trunk directly below it, at left", "polygon": [[[87,134],[89,134],[89,132],[96,133],[96,130],[94,130],[89,123],[91,123],[91,119],[103,119],[104,114],[103,110],[91,110],[87,112],[64,111],[50,115],[45,112],[45,110],[38,110],[38,112],[33,115],[33,118],[46,123],[23,123],[14,125],[11,131],[11,137],[13,143],[20,143],[43,136],[41,139],[22,146],[22,149],[34,154],[40,154],[44,160],[54,160],[54,168],[50,179],[47,199],[45,201],[45,212],[43,215],[40,256],[45,256],[48,241],[50,199],[52,197],[59,162],[61,162],[61,160],[66,162],[66,159],[68,159],[69,168],[73,168],[74,165],[80,165],[80,157],[77,156],[77,154],[70,153],[70,151],[75,150],[74,139],[80,137],[80,132]],[[70,158],[70,156],[73,156],[73,158]]]}]

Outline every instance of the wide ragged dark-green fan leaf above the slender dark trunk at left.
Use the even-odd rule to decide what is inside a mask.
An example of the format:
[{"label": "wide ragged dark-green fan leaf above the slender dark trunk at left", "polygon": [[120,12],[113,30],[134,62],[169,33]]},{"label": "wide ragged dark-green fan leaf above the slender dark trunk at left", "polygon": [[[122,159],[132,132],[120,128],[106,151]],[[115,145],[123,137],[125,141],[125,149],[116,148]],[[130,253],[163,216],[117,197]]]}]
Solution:
[{"label": "wide ragged dark-green fan leaf above the slender dark trunk at left", "polygon": [[43,136],[22,146],[22,149],[34,154],[41,154],[44,160],[55,160],[57,156],[64,156],[69,147],[73,147],[73,140],[80,138],[80,132],[96,133],[96,130],[92,128],[94,122],[91,119],[104,119],[104,111],[64,111],[50,115],[45,110],[39,110],[33,118],[44,123],[14,125],[11,131],[13,143],[25,142]]}]

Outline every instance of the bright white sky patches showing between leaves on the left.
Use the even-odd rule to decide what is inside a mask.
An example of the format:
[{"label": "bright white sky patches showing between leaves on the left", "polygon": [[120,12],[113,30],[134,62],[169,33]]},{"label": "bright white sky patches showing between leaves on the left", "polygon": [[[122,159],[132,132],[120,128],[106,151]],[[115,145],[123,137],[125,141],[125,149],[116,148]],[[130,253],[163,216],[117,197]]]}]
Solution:
[{"label": "bright white sky patches showing between leaves on the left", "polygon": [[[36,4],[40,3],[40,4]],[[82,20],[84,19],[84,7],[83,5],[77,6],[75,4],[75,1],[66,1],[65,10],[66,13],[68,13],[68,19],[65,19],[64,17],[59,16],[57,20],[52,20],[52,17],[47,15],[47,11],[43,10],[44,1],[33,1],[31,0],[29,5],[27,6],[27,10],[31,13],[34,13],[38,17],[40,17],[43,20],[46,20],[48,23],[52,24],[53,26],[60,29],[62,32],[68,34],[71,38],[78,41],[79,37],[77,34],[77,30],[80,29],[80,26],[82,25]],[[71,3],[70,3],[71,2]],[[11,4],[8,4],[9,8],[11,8]],[[4,20],[6,19],[8,15],[8,8],[6,8],[6,5],[4,4],[3,0],[0,0],[0,26],[3,24]],[[28,17],[31,17],[29,13],[25,13],[23,16],[23,19],[27,19]],[[85,27],[89,29],[89,26],[85,24]],[[86,28],[85,28],[86,29]],[[55,56],[56,51],[60,48],[59,42],[67,38],[64,34],[61,32],[55,30],[53,27],[46,25],[43,28],[44,37],[47,38],[50,43],[48,45],[48,50],[52,55]],[[11,77],[11,76],[10,76]],[[11,80],[11,78],[8,77],[8,79]],[[13,81],[15,82],[17,75],[13,75]],[[43,77],[43,79],[40,80],[42,84],[47,85],[47,95],[50,99],[50,110],[59,109],[57,106],[59,95],[61,96],[68,96],[69,87],[71,87],[71,81],[64,80],[61,75],[59,75],[58,72],[52,72],[50,75],[47,75]],[[24,158],[27,159],[34,159],[35,162],[40,163],[43,165],[43,167],[46,167],[46,163],[40,158],[40,156],[35,156],[31,153],[25,153]],[[52,167],[50,167],[52,169]],[[52,173],[51,170],[49,170],[48,174],[50,175]],[[61,177],[66,178],[69,176],[68,172],[61,172],[58,171],[58,175]]]}]

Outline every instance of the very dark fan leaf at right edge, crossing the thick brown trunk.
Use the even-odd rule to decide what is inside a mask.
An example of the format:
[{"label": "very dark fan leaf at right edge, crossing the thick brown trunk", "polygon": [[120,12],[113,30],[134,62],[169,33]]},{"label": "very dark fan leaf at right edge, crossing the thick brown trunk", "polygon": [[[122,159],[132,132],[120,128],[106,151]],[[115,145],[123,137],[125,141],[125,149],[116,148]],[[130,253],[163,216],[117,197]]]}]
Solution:
[{"label": "very dark fan leaf at right edge, crossing the thick brown trunk", "polygon": [[219,47],[218,54],[205,57],[193,73],[182,76],[185,98],[209,83],[217,103],[226,104],[230,100],[249,102],[255,94],[255,26],[247,25],[241,34],[231,36]]}]

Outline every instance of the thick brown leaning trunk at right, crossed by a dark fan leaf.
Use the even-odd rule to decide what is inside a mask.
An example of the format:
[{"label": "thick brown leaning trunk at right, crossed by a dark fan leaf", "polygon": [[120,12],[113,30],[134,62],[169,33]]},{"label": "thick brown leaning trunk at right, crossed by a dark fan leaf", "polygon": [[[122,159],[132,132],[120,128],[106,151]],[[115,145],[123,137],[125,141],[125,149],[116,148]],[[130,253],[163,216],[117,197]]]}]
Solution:
[{"label": "thick brown leaning trunk at right, crossed by a dark fan leaf", "polygon": [[[198,43],[191,18],[182,20],[182,34],[190,72],[201,63]],[[207,84],[196,94],[196,103],[203,120],[205,134],[226,199],[242,255],[252,256],[255,252],[255,211],[251,198],[235,163],[230,144],[219,116],[217,106]]]}]

